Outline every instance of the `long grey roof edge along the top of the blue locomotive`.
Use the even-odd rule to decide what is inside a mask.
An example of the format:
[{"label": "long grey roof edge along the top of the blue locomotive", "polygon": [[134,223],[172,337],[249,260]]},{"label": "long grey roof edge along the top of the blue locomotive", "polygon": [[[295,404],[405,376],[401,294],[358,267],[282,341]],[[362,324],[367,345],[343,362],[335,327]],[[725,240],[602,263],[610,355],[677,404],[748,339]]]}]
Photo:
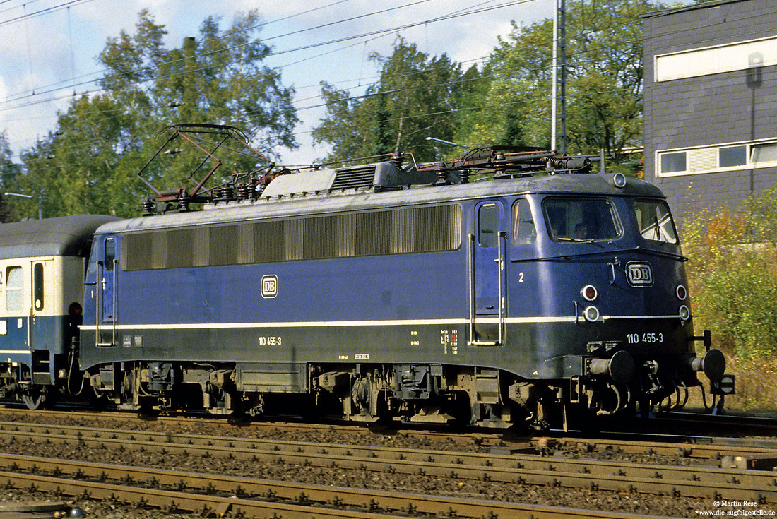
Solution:
[{"label": "long grey roof edge along the top of the blue locomotive", "polygon": [[[299,193],[302,193],[302,190],[299,190]],[[312,194],[308,192],[305,196],[300,194],[299,196],[270,199],[261,197],[252,202],[217,204],[204,211],[167,213],[113,221],[100,227],[97,232],[105,234],[143,232],[155,228],[218,225],[227,221],[293,218],[312,214],[335,214],[378,208],[389,209],[414,205],[455,203],[530,193],[665,198],[664,193],[661,193],[657,186],[640,179],[627,178],[625,187],[618,188],[612,183],[611,173],[572,173],[494,179],[443,186],[414,185],[410,186],[409,189],[378,192],[375,190],[346,190],[343,193]]]}]

